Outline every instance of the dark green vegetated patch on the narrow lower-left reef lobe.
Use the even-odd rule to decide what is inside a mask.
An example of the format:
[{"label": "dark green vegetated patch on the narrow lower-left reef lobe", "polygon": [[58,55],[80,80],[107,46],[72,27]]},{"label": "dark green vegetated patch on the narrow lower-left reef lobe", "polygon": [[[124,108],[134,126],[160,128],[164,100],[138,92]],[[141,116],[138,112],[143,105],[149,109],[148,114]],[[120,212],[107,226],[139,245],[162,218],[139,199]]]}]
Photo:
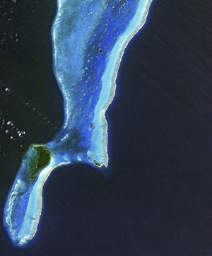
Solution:
[{"label": "dark green vegetated patch on the narrow lower-left reef lobe", "polygon": [[[31,173],[31,180],[34,180],[38,171],[42,168],[45,168],[51,159],[51,154],[45,148],[45,146],[33,146],[33,150],[36,153],[36,160],[33,159],[33,163],[31,165],[32,173]],[[35,160],[35,161],[34,161]]]}]

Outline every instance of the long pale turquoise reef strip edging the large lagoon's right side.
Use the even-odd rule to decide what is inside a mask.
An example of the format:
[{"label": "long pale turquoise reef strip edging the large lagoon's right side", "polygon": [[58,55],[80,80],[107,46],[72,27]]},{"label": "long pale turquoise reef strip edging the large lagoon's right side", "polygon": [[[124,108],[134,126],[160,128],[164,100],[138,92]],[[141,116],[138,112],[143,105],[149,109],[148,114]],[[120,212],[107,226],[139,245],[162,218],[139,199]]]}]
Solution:
[{"label": "long pale turquoise reef strip edging the large lagoon's right side", "polygon": [[[100,112],[101,116],[100,116],[100,121],[99,121],[100,124],[99,125],[100,125],[100,127],[103,127],[103,128],[102,128],[102,134],[101,134],[102,141],[100,143],[98,143],[98,145],[102,145],[102,151],[104,152],[104,156],[105,156],[104,161],[103,161],[105,163],[101,163],[100,167],[102,165],[105,165],[105,167],[107,167],[107,165],[108,165],[108,160],[109,160],[108,153],[107,153],[108,125],[107,125],[107,120],[105,117],[105,112],[107,111],[107,108],[109,107],[109,105],[112,103],[112,100],[115,95],[115,90],[116,90],[116,86],[117,86],[116,79],[117,79],[119,66],[122,62],[124,50],[126,49],[127,45],[129,44],[130,40],[132,39],[132,37],[134,37],[134,35],[136,35],[136,33],[138,33],[139,30],[146,23],[146,18],[148,16],[148,11],[149,11],[152,1],[153,0],[151,0],[151,1],[147,0],[145,3],[143,3],[142,1],[139,2],[139,7],[136,11],[136,14],[134,15],[134,18],[131,20],[128,28],[119,37],[119,40],[116,42],[116,44],[113,47],[112,52],[110,53],[109,61],[107,62],[107,67],[106,67],[105,73],[102,76],[102,90],[100,92],[100,98],[98,100],[98,104],[95,107],[95,117],[93,120],[93,123],[95,123],[95,124],[98,123],[98,119],[99,119],[98,112]],[[145,6],[145,8],[143,8],[143,6]],[[140,13],[142,13],[141,17],[139,17]],[[132,25],[132,23],[136,23],[136,25],[134,25],[134,24]],[[134,26],[134,28],[133,28],[133,26]],[[131,30],[131,31],[129,32],[129,30]],[[125,40],[123,40],[124,37],[125,37]],[[124,41],[124,43],[122,43],[123,41]],[[105,101],[105,94],[108,95],[106,101]],[[102,101],[102,105],[100,103],[101,101]],[[92,138],[91,138],[90,148],[93,146],[93,144],[96,144],[96,140],[98,137],[99,136],[97,136],[97,134],[95,133],[95,130],[94,130],[93,134],[92,134]],[[93,146],[93,149],[95,149],[95,148],[96,147]]]}]

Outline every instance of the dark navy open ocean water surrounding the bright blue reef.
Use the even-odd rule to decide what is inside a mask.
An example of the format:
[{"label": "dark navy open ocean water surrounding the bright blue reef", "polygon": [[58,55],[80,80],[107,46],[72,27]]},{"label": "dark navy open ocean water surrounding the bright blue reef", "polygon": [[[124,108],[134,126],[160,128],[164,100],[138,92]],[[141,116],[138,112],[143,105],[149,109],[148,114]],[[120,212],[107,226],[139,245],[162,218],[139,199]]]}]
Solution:
[{"label": "dark navy open ocean water surrounding the bright blue reef", "polygon": [[[28,145],[63,122],[55,12],[52,0],[0,1],[1,219]],[[35,245],[13,248],[1,221],[0,256],[212,255],[211,12],[209,0],[153,1],[107,111],[110,179],[88,165],[55,170]]]}]

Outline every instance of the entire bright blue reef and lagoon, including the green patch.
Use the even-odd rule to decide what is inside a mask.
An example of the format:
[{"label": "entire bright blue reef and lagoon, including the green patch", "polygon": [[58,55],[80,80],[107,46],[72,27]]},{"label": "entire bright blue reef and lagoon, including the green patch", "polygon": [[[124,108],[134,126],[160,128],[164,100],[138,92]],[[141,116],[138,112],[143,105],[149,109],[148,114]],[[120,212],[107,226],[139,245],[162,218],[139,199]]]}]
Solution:
[{"label": "entire bright blue reef and lagoon, including the green patch", "polygon": [[[124,49],[146,21],[151,0],[58,0],[52,24],[54,74],[64,96],[64,124],[47,144],[32,144],[8,194],[4,226],[25,246],[37,231],[42,187],[59,165],[107,166],[105,111]],[[101,169],[100,169],[101,170]]]}]

